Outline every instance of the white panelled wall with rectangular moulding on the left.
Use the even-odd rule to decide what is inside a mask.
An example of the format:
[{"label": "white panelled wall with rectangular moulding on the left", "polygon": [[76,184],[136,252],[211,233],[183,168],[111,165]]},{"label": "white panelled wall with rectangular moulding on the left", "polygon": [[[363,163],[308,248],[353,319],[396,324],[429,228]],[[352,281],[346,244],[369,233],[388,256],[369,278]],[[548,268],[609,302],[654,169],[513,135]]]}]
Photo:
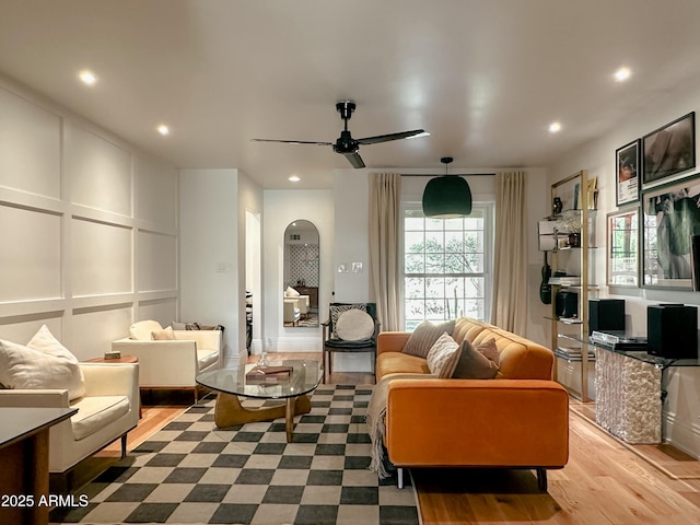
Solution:
[{"label": "white panelled wall with rectangular moulding on the left", "polygon": [[0,337],[79,359],[175,318],[177,172],[0,78]]}]

